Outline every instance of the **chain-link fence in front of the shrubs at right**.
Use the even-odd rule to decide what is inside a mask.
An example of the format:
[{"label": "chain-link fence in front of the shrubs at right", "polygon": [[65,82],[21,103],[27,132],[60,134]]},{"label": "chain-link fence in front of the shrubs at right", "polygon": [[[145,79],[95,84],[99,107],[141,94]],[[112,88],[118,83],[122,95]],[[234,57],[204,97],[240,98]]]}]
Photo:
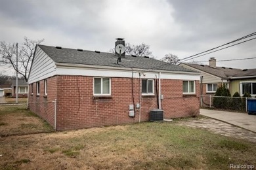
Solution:
[{"label": "chain-link fence in front of the shrubs at right", "polygon": [[216,108],[247,112],[247,99],[252,97],[226,97],[215,95],[201,95],[200,106],[202,108]]}]

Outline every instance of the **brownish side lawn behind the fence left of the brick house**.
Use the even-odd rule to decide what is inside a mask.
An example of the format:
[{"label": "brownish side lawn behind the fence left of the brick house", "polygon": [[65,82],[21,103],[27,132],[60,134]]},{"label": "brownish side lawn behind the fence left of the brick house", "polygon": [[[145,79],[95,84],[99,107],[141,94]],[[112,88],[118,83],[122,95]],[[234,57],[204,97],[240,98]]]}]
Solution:
[{"label": "brownish side lawn behind the fence left of the brick house", "polygon": [[0,106],[0,135],[24,135],[53,131],[53,127],[26,106]]}]

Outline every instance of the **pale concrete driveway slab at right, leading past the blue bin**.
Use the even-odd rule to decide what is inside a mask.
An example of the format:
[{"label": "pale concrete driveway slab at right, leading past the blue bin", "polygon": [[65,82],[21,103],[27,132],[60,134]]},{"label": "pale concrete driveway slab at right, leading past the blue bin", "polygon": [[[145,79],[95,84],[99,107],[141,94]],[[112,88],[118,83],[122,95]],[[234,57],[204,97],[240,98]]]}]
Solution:
[{"label": "pale concrete driveway slab at right, leading past the blue bin", "polygon": [[200,114],[256,132],[256,115],[208,109],[200,109]]}]

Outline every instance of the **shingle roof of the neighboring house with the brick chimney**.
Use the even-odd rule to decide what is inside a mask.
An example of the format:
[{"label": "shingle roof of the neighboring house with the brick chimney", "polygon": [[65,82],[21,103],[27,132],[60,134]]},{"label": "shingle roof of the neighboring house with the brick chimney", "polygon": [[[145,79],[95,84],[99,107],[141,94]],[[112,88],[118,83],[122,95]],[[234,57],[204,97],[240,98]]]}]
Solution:
[{"label": "shingle roof of the neighboring house with the brick chimney", "polygon": [[209,65],[199,65],[199,64],[192,64],[192,63],[183,63],[184,65],[188,65],[190,67],[194,67],[195,69],[199,69],[211,75],[219,76],[221,78],[228,78],[228,76],[233,76],[242,72],[242,69],[234,69],[228,67],[210,67]]}]

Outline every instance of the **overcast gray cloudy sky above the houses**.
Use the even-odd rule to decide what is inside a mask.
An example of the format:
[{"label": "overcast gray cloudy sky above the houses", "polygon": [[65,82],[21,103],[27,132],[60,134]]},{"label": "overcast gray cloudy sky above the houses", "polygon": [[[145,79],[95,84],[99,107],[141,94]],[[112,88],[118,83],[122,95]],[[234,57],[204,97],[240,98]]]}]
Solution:
[{"label": "overcast gray cloudy sky above the houses", "polygon": [[[168,53],[182,59],[256,32],[255,0],[0,0],[0,4],[0,41],[21,43],[26,36],[45,39],[43,44],[50,46],[107,52],[121,37],[131,44],[149,44],[158,59]],[[256,57],[256,40],[194,60],[211,57]],[[250,69],[256,68],[255,61],[217,66]]]}]

